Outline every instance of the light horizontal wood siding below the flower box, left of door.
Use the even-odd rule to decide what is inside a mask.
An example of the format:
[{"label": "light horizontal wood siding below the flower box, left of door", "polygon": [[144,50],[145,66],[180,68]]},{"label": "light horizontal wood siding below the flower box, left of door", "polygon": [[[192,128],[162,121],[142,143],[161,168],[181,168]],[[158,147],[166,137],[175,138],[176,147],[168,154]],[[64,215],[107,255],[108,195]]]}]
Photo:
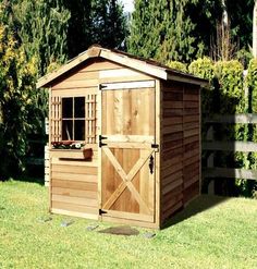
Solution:
[{"label": "light horizontal wood siding below the flower box, left of door", "polygon": [[[97,151],[93,159],[71,160],[51,157],[51,211],[96,219],[97,197]],[[51,156],[51,155],[50,155]]]}]

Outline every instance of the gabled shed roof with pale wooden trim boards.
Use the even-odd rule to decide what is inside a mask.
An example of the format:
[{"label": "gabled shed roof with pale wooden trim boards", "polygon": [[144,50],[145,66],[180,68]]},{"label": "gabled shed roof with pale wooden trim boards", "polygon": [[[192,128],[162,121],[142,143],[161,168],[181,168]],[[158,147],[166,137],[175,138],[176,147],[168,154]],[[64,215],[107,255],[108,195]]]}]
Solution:
[{"label": "gabled shed roof with pale wooden trim boards", "polygon": [[60,69],[39,78],[37,82],[37,88],[51,86],[57,78],[66,74],[69,71],[88,59],[94,58],[102,58],[164,81],[181,81],[197,85],[205,85],[208,83],[206,80],[170,69],[169,66],[160,64],[154,60],[146,60],[120,50],[106,49],[98,45],[94,45],[88,50],[70,60]]}]

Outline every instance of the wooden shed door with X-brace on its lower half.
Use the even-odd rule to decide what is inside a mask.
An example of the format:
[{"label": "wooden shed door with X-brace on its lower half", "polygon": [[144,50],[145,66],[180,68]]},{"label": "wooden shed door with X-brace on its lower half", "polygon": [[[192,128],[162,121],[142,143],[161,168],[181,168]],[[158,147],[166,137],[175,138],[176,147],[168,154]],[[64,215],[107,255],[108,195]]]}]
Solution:
[{"label": "wooden shed door with X-brace on its lower half", "polygon": [[101,85],[101,213],[155,221],[155,82]]}]

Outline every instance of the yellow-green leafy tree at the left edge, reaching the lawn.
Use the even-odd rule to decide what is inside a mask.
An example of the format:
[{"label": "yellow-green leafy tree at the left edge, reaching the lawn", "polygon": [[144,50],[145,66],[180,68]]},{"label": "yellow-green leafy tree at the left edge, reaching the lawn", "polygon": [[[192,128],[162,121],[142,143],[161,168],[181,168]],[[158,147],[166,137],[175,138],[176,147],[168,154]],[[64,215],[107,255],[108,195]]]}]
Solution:
[{"label": "yellow-green leafy tree at the left edge, reaching the lawn", "polygon": [[8,26],[0,23],[0,180],[24,169],[26,137],[33,129],[32,115],[37,113],[35,66]]}]

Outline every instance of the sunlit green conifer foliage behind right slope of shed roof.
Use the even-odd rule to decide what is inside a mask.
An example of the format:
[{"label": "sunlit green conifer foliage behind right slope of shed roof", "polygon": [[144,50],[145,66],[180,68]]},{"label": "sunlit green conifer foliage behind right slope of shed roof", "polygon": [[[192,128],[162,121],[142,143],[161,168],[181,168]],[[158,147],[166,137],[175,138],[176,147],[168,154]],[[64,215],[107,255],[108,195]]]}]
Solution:
[{"label": "sunlit green conifer foliage behind right slope of shed roof", "polygon": [[196,48],[192,35],[195,25],[185,12],[187,4],[185,0],[136,1],[128,51],[162,63],[189,61],[196,54]]}]

